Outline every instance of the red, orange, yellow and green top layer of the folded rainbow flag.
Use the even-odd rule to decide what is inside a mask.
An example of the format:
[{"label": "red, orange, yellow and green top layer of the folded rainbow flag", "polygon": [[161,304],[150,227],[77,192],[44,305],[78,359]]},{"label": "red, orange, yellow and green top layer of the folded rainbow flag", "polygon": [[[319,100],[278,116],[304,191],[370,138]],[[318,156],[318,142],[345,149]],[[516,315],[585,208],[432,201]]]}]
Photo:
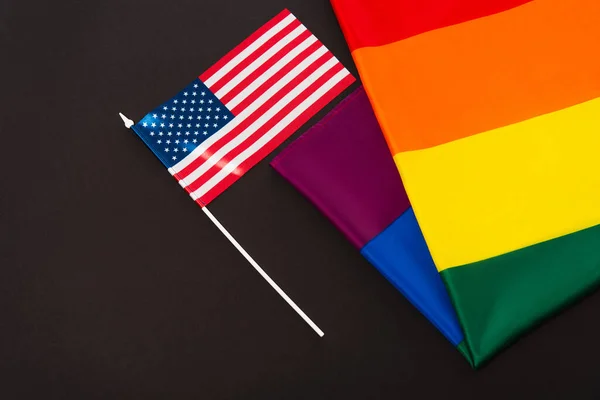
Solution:
[{"label": "red, orange, yellow and green top layer of the folded rainbow flag", "polygon": [[600,281],[600,2],[332,4],[480,366]]}]

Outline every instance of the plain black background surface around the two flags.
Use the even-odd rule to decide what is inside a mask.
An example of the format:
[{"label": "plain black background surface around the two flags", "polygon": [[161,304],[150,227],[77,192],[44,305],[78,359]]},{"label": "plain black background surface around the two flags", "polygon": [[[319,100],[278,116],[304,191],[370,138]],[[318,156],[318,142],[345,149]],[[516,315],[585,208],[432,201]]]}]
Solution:
[{"label": "plain black background surface around the two flags", "polygon": [[473,371],[280,148],[210,208],[319,339],[123,127],[285,7],[356,75],[326,0],[0,1],[0,399],[600,397],[600,294]]}]

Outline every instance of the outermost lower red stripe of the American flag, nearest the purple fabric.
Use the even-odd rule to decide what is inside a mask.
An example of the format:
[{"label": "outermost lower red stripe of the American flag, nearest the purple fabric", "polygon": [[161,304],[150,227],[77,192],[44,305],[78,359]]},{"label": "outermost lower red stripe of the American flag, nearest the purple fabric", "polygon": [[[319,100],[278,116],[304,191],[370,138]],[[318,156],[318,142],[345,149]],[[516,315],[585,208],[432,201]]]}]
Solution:
[{"label": "outermost lower red stripe of the American flag, nearest the purple fabric", "polygon": [[218,197],[221,193],[227,190],[235,181],[240,179],[246,172],[248,172],[252,167],[254,167],[258,162],[260,162],[264,157],[266,157],[269,153],[275,150],[281,143],[283,143],[289,136],[291,136],[296,130],[300,129],[302,125],[304,125],[308,120],[313,117],[317,112],[319,112],[323,107],[325,107],[330,101],[335,99],[337,95],[339,95],[344,89],[350,86],[355,81],[352,75],[346,76],[340,82],[338,82],[334,87],[332,87],[324,96],[322,96],[319,100],[317,100],[311,107],[306,109],[302,114],[300,114],[291,124],[289,124],[281,133],[275,136],[269,143],[263,146],[258,152],[254,153],[250,158],[244,161],[237,169],[241,172],[238,174],[229,174],[226,178],[224,178],[221,182],[219,182],[215,187],[209,190],[205,195],[197,200],[200,206],[204,206],[211,201],[213,201],[216,197]]}]

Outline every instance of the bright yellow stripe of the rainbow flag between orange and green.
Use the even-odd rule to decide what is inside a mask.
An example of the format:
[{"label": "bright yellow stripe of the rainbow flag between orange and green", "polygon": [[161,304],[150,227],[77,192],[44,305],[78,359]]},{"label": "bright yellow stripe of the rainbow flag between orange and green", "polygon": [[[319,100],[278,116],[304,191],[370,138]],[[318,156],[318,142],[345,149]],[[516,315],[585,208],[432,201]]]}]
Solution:
[{"label": "bright yellow stripe of the rainbow flag between orange and green", "polygon": [[599,150],[600,98],[394,158],[442,271],[600,224]]}]

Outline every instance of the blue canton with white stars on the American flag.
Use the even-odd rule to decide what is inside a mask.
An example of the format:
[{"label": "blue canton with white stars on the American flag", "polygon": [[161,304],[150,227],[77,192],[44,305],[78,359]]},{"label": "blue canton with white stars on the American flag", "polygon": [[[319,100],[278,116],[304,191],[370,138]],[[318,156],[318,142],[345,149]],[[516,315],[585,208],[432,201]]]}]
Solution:
[{"label": "blue canton with white stars on the American flag", "polygon": [[232,119],[231,111],[196,79],[147,114],[133,130],[170,168]]}]

